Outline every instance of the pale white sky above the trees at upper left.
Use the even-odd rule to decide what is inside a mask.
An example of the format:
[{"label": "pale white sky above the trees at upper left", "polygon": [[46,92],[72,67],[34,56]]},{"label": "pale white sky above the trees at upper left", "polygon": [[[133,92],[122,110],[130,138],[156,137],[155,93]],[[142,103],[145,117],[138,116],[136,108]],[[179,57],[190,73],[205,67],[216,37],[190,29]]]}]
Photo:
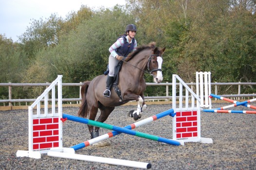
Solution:
[{"label": "pale white sky above the trees at upper left", "polygon": [[110,8],[125,3],[125,0],[0,0],[0,34],[15,42],[26,32],[31,19],[45,20],[54,13],[66,18],[68,13],[77,12],[81,5]]}]

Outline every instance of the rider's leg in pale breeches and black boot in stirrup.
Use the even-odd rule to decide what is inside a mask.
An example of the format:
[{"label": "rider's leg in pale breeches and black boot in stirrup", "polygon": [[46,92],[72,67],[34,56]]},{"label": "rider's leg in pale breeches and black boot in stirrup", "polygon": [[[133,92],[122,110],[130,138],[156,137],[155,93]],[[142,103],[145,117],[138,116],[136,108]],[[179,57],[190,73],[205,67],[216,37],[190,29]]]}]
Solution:
[{"label": "rider's leg in pale breeches and black boot in stirrup", "polygon": [[103,96],[110,97],[110,88],[113,83],[114,74],[115,74],[115,66],[118,64],[118,60],[110,55],[109,57],[109,75],[106,82],[106,90],[103,93]]}]

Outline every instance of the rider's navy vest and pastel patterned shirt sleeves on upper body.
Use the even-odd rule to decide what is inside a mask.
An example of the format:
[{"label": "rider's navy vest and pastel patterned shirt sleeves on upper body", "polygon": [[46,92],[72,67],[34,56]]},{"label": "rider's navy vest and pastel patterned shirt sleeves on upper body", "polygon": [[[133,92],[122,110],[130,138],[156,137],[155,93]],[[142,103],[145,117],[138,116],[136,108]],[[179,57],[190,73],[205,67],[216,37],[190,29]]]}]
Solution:
[{"label": "rider's navy vest and pastel patterned shirt sleeves on upper body", "polygon": [[127,36],[120,36],[117,41],[110,47],[110,55],[116,57],[116,55],[127,57],[127,55],[136,50],[137,41],[132,38],[131,42],[128,42]]}]

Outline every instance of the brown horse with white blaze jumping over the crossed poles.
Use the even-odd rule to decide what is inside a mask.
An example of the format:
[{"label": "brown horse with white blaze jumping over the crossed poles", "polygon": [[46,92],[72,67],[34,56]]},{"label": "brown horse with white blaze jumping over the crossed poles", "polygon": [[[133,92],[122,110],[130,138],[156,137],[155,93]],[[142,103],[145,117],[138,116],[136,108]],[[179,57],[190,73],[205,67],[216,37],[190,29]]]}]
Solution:
[{"label": "brown horse with white blaze jumping over the crossed poles", "polygon": [[[121,98],[113,87],[110,90],[110,97],[103,96],[107,75],[99,75],[92,81],[84,82],[81,88],[82,104],[78,116],[86,118],[89,114],[89,119],[95,120],[98,109],[100,109],[100,116],[97,121],[104,122],[115,106],[135,100],[138,102],[137,110],[130,111],[128,115],[135,120],[140,119],[141,113],[146,110],[143,94],[146,89],[144,73],[147,72],[152,75],[155,83],[160,83],[163,80],[162,54],[164,51],[165,48],[155,47],[155,43],[152,42],[147,46],[137,47],[136,51],[125,58],[118,78]],[[88,125],[88,128],[91,138],[99,136],[99,127],[95,127],[95,132],[93,132],[93,126]]]}]

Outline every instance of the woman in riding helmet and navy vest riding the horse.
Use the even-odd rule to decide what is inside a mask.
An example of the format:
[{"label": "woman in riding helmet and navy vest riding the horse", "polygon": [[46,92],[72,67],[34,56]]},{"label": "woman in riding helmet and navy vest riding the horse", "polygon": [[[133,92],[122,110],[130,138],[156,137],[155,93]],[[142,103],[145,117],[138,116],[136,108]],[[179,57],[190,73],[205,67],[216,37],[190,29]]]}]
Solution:
[{"label": "woman in riding helmet and navy vest riding the horse", "polygon": [[110,56],[109,56],[109,75],[107,78],[106,90],[103,93],[103,96],[110,97],[110,88],[114,79],[114,69],[115,66],[123,60],[131,51],[136,50],[137,41],[134,38],[137,28],[133,24],[126,26],[125,34],[120,36],[117,41],[110,47]]}]

